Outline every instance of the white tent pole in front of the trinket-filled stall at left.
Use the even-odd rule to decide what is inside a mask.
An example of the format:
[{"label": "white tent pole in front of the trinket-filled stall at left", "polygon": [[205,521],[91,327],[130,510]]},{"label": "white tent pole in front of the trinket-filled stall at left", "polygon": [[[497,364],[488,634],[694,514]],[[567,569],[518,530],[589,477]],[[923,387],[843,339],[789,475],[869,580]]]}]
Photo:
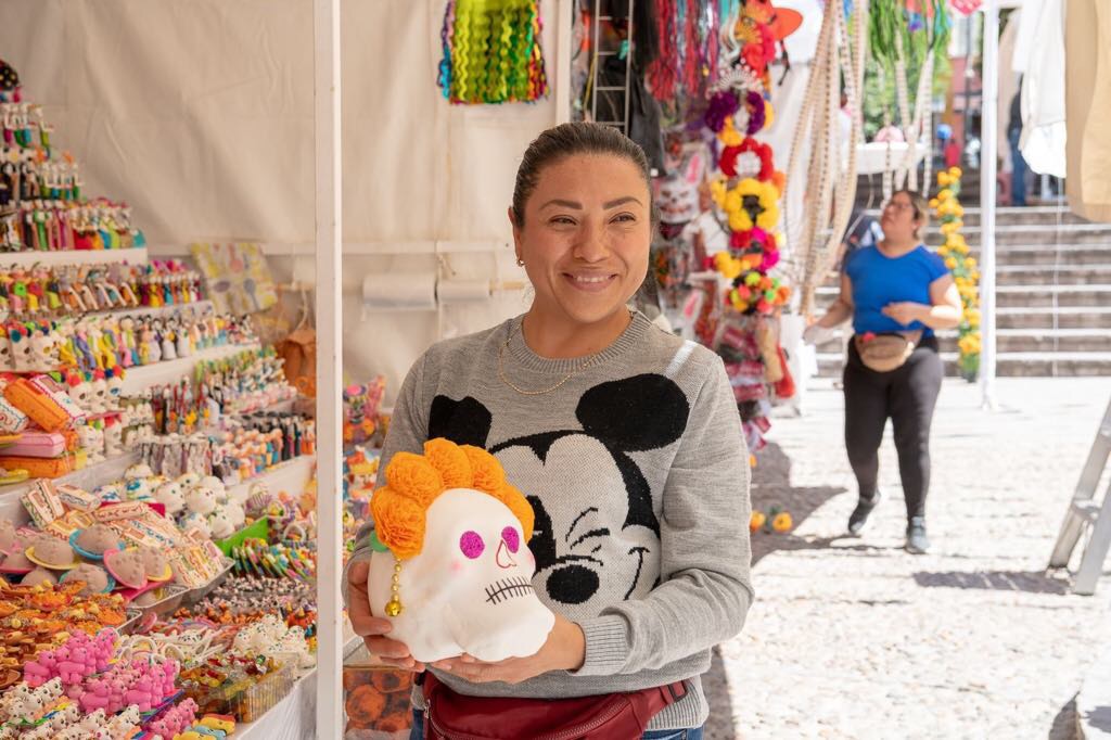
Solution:
[{"label": "white tent pole in front of the trinket-filled stall at left", "polygon": [[317,224],[317,732],[343,736],[340,0],[313,0]]}]

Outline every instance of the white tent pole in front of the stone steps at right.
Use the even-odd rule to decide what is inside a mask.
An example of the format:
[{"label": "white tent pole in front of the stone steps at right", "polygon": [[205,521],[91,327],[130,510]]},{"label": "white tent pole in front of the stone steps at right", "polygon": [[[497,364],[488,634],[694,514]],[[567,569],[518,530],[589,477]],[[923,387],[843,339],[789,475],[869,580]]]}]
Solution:
[{"label": "white tent pole in front of the stone steps at right", "polygon": [[995,131],[999,100],[999,0],[983,3],[980,103],[980,394],[995,408]]}]

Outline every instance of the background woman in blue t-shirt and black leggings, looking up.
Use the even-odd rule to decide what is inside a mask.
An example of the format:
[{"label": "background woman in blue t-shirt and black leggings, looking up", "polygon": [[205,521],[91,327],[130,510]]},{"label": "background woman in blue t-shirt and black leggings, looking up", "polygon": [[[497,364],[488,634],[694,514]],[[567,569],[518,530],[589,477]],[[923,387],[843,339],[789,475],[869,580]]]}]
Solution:
[{"label": "background woman in blue t-shirt and black leggings, looking up", "polygon": [[901,190],[883,208],[883,239],[858,249],[845,260],[841,294],[807,330],[809,341],[849,318],[853,332],[902,334],[913,352],[898,368],[879,372],[861,360],[857,341],[849,342],[844,368],[844,442],[860,487],[860,501],[849,517],[849,532],[859,534],[880,501],[877,488],[879,449],[890,418],[899,453],[899,474],[907,500],[907,550],[925,552],[925,494],[930,487],[930,422],[944,368],[935,329],[951,329],[961,319],[953,278],[940,257],[922,243],[928,220],[922,196]]}]

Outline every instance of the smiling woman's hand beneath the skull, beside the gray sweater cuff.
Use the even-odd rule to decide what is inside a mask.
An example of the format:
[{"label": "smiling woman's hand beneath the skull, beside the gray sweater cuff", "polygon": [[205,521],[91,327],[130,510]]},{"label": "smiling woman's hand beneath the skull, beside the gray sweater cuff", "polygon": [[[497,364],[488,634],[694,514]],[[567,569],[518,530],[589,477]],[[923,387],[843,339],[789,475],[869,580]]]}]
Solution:
[{"label": "smiling woman's hand beneath the skull, beside the gray sweater cuff", "polygon": [[471,656],[431,663],[432,668],[447,671],[473,683],[503,681],[520,683],[548,671],[570,671],[582,667],[587,656],[587,638],[582,628],[556,614],[556,624],[548,640],[536,654],[528,658],[507,658],[496,663],[484,663]]}]

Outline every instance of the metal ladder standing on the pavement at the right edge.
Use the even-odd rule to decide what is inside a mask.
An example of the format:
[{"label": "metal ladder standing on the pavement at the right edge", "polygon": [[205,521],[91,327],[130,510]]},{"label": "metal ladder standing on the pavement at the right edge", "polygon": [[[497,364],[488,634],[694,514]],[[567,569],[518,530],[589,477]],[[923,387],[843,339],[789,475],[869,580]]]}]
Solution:
[{"label": "metal ladder standing on the pavement at the right edge", "polygon": [[1080,569],[1072,581],[1075,593],[1091,596],[1095,592],[1095,583],[1103,571],[1103,559],[1111,547],[1111,486],[1103,496],[1103,502],[1095,502],[1095,488],[1111,457],[1111,402],[1095,432],[1095,441],[1088,453],[1084,470],[1080,473],[1077,491],[1069,502],[1069,510],[1061,524],[1061,533],[1057,536],[1053,554],[1050,556],[1050,568],[1068,568],[1072,551],[1084,533],[1084,528],[1092,526],[1091,538],[1084,548],[1080,560]]}]

